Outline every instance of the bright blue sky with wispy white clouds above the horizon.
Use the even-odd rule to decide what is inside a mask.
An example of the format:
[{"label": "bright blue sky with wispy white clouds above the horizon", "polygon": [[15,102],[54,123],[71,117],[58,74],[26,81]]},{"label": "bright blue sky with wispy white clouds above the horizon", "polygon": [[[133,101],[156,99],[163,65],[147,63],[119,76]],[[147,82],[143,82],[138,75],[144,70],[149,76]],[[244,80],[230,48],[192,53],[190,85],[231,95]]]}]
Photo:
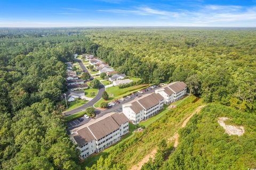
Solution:
[{"label": "bright blue sky with wispy white clouds above the horizon", "polygon": [[256,0],[0,0],[0,27],[256,27]]}]

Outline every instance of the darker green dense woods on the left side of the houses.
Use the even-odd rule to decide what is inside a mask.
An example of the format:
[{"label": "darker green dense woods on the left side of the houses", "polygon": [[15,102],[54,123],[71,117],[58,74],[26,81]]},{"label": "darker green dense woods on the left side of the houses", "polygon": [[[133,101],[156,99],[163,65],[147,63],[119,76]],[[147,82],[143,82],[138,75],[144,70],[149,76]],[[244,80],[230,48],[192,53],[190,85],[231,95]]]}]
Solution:
[{"label": "darker green dense woods on the left side of the houses", "polygon": [[0,169],[80,169],[61,111],[66,65],[88,38],[0,38]]}]

